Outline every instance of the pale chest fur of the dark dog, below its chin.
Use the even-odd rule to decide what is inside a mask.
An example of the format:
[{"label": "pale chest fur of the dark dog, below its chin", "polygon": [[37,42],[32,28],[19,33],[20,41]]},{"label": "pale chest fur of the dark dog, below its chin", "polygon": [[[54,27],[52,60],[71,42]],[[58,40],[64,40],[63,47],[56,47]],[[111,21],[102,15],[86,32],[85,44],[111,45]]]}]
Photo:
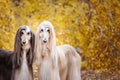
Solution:
[{"label": "pale chest fur of the dark dog, below its chin", "polygon": [[32,80],[26,59],[26,52],[23,52],[20,69],[15,71],[15,80]]}]

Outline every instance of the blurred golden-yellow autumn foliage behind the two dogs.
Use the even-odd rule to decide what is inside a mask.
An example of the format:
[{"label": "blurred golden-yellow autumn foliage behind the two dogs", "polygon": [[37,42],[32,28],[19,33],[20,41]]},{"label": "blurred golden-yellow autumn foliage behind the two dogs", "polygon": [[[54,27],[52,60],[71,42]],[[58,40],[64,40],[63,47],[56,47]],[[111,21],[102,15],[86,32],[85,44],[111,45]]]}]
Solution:
[{"label": "blurred golden-yellow autumn foliage behind the two dogs", "polygon": [[35,32],[44,20],[53,23],[58,45],[83,50],[86,69],[120,70],[119,0],[0,0],[0,48],[13,49],[19,26]]}]

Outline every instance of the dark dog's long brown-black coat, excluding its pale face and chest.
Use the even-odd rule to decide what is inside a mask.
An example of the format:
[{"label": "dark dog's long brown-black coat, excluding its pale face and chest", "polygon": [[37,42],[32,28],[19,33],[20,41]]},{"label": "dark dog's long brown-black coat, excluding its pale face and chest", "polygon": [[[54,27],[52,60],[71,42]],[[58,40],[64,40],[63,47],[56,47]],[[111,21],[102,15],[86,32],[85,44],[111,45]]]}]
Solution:
[{"label": "dark dog's long brown-black coat, excluding its pale face and chest", "polygon": [[[0,80],[16,80],[15,76],[19,75],[22,64],[23,64],[23,45],[22,45],[22,38],[23,35],[22,31],[27,31],[29,29],[30,35],[30,47],[26,53],[26,62],[25,65],[28,66],[29,74],[33,77],[33,70],[32,70],[32,63],[34,57],[34,43],[35,43],[35,35],[33,31],[28,26],[21,26],[15,36],[15,43],[14,43],[14,51],[2,50],[0,49]],[[26,33],[27,34],[27,33]],[[24,68],[24,65],[23,65]],[[3,72],[5,71],[5,72]],[[19,72],[19,73],[17,73]],[[27,74],[25,72],[25,74]],[[29,77],[29,76],[21,76],[21,77]],[[17,79],[19,80],[19,79]]]}]

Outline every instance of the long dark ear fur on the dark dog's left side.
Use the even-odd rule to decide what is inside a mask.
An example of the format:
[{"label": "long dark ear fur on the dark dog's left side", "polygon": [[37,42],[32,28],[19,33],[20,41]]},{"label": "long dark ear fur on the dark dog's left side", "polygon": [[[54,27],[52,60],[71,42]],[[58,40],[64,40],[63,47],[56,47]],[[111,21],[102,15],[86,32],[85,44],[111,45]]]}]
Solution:
[{"label": "long dark ear fur on the dark dog's left side", "polygon": [[16,36],[15,36],[15,44],[14,44],[14,59],[13,63],[15,64],[14,67],[19,67],[21,65],[21,29],[18,29]]}]

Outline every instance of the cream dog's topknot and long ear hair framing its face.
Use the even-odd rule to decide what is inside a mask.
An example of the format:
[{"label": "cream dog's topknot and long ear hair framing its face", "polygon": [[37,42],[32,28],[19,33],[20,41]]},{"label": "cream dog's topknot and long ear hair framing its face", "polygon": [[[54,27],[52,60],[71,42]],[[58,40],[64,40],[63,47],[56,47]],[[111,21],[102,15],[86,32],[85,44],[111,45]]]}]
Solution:
[{"label": "cream dog's topknot and long ear hair framing its face", "polygon": [[[55,65],[57,65],[57,56],[56,56],[56,37],[55,37],[55,31],[53,29],[53,25],[50,24],[48,22],[48,24],[44,24],[44,23],[41,23],[39,26],[49,26],[50,28],[50,39],[49,39],[49,43],[47,43],[47,49],[49,49],[49,54],[50,56],[52,56],[52,59],[53,59],[53,63]],[[37,63],[39,63],[39,58],[40,56],[44,56],[46,55],[43,51],[43,44],[42,44],[42,41],[40,40],[40,36],[39,36],[39,33],[40,33],[40,28],[38,27],[37,29],[37,33],[36,33],[36,41],[35,41],[35,52],[36,52],[36,61]],[[55,66],[54,65],[54,66]]]}]

